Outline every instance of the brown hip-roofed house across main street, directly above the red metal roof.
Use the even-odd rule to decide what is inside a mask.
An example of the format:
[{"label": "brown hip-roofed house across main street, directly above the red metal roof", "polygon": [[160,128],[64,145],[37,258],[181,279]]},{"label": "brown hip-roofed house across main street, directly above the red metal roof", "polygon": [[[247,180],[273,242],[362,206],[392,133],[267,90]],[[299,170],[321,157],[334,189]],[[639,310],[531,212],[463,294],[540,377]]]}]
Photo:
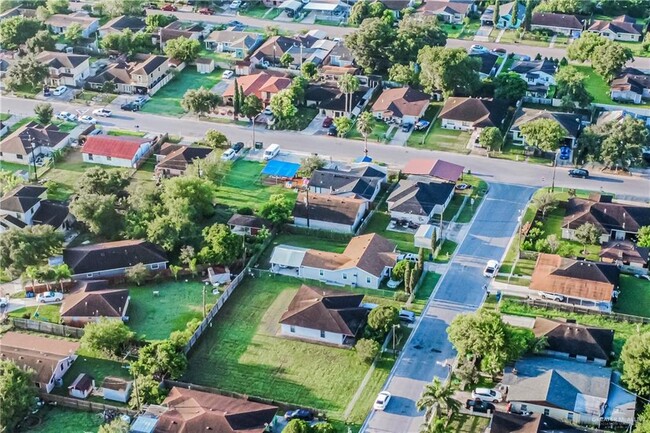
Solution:
[{"label": "brown hip-roofed house across main street, directly above the red metal roof", "polygon": [[488,127],[500,128],[507,110],[508,104],[502,101],[450,97],[445,101],[438,118],[445,129],[471,131]]}]

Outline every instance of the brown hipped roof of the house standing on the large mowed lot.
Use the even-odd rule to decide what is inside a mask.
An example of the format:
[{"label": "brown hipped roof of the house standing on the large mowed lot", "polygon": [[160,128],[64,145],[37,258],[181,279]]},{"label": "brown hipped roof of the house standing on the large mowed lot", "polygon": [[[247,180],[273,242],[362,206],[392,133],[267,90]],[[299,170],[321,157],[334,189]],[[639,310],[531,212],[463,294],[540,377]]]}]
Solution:
[{"label": "brown hipped roof of the house standing on the large mowed lot", "polygon": [[280,323],[355,337],[368,316],[368,310],[359,306],[362,300],[363,295],[303,284]]}]

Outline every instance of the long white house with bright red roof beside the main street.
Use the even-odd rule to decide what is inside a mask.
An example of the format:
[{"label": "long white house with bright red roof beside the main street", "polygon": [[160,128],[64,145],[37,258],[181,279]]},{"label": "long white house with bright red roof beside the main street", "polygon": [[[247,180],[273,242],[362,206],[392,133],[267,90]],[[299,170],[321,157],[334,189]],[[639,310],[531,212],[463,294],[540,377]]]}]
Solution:
[{"label": "long white house with bright red roof beside the main street", "polygon": [[138,168],[150,153],[150,138],[91,135],[81,148],[83,161],[113,167]]}]

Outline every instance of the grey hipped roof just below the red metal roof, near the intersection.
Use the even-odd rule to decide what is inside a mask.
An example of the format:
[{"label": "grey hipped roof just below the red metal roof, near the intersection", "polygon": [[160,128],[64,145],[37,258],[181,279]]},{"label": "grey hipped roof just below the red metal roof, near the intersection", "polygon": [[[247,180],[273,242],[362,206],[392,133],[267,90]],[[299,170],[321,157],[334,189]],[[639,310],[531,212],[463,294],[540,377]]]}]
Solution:
[{"label": "grey hipped roof just below the red metal roof, near the intersection", "polygon": [[390,212],[430,215],[434,207],[443,205],[454,193],[453,183],[400,180],[386,202]]}]

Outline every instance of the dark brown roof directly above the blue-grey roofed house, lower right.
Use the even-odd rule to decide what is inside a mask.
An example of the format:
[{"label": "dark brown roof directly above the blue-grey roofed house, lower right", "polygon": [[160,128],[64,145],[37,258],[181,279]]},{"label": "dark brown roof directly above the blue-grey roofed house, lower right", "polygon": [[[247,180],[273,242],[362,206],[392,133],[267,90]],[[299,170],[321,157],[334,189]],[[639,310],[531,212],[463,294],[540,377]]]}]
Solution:
[{"label": "dark brown roof directly above the blue-grey roofed house, lower right", "polygon": [[587,358],[609,359],[614,347],[614,331],[579,325],[566,320],[535,319],[535,337],[546,337],[547,350]]}]

